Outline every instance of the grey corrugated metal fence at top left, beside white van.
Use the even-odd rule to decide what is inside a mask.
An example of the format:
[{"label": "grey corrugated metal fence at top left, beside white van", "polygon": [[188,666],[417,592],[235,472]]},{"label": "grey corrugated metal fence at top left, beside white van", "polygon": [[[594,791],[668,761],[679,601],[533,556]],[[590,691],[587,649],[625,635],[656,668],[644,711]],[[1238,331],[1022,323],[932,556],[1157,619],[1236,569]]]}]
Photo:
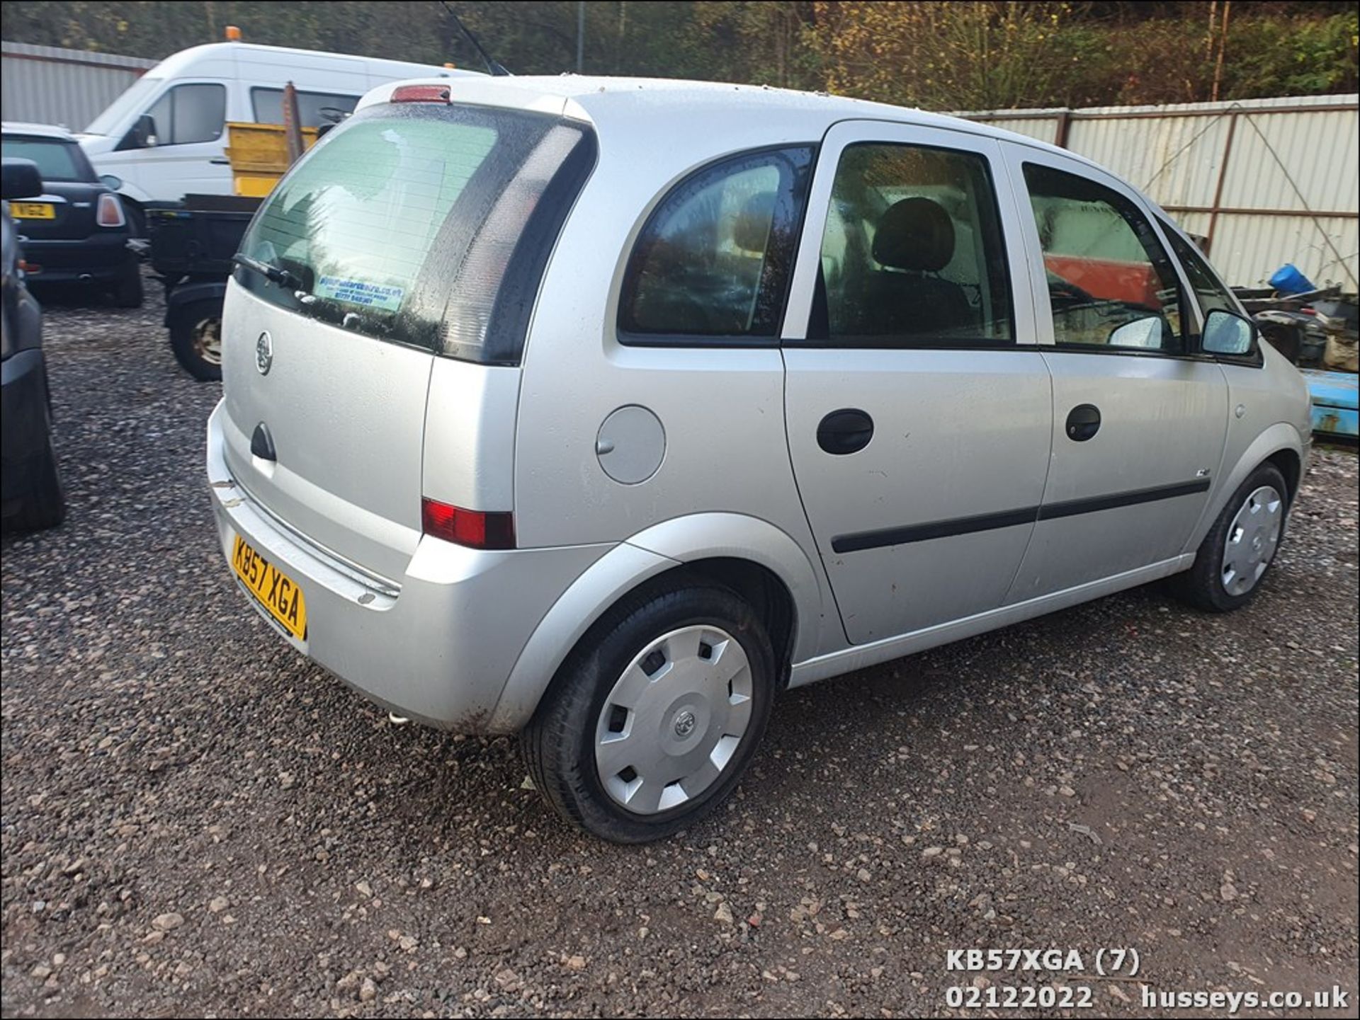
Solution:
[{"label": "grey corrugated metal fence at top left, beside white van", "polygon": [[0,42],[0,113],[7,121],[83,130],[156,61],[26,42]]}]

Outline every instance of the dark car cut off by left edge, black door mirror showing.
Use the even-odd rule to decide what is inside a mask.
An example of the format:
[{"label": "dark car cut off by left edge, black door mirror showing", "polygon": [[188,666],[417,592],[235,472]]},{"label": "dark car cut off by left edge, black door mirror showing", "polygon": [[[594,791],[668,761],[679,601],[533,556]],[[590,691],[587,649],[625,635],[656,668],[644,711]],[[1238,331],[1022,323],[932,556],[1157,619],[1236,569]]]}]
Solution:
[{"label": "dark car cut off by left edge, black door mirror showing", "polygon": [[52,448],[52,402],[42,357],[42,311],[19,269],[19,236],[11,204],[44,194],[38,168],[27,159],[5,159],[0,202],[0,507],[4,530],[30,531],[61,523],[65,496]]}]

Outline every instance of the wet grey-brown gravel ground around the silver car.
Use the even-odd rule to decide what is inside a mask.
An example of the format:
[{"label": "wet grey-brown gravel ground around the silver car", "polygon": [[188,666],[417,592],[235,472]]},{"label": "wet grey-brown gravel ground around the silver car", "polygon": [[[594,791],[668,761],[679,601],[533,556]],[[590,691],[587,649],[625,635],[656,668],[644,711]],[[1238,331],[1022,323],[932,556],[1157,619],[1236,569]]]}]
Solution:
[{"label": "wet grey-brown gravel ground around the silver car", "polygon": [[243,603],[219,388],[159,321],[48,310],[71,513],[3,549],[5,1015],[940,1015],[970,947],[1353,1010],[1353,454],[1247,610],[1146,588],[794,691],[726,808],[624,849],[511,740],[393,728]]}]

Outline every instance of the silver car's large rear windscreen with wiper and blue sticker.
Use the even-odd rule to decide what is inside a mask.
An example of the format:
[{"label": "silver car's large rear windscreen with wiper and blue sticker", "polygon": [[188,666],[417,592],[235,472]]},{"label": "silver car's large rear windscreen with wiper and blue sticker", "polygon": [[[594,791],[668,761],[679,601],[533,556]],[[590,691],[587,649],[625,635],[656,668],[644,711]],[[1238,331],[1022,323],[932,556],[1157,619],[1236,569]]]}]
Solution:
[{"label": "silver car's large rear windscreen with wiper and blue sticker", "polygon": [[[389,103],[326,134],[265,200],[237,280],[299,314],[514,363],[566,211],[585,125],[522,110]],[[271,281],[258,270],[273,272]]]}]

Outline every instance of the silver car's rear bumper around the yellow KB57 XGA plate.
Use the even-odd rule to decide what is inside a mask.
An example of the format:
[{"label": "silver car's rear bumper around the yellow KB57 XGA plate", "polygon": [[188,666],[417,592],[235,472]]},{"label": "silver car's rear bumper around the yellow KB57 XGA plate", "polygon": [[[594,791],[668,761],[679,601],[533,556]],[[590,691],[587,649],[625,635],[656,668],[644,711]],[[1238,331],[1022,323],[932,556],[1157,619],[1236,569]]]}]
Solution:
[{"label": "silver car's rear bumper around the yellow KB57 XGA plate", "polygon": [[[208,482],[228,569],[235,535],[306,600],[298,640],[242,598],[294,648],[379,705],[458,732],[488,721],[534,627],[609,545],[480,551],[422,538],[405,573],[382,579],[313,545],[231,477],[219,403],[208,418]],[[231,575],[235,580],[235,575]],[[514,720],[509,725],[520,725]]]}]

